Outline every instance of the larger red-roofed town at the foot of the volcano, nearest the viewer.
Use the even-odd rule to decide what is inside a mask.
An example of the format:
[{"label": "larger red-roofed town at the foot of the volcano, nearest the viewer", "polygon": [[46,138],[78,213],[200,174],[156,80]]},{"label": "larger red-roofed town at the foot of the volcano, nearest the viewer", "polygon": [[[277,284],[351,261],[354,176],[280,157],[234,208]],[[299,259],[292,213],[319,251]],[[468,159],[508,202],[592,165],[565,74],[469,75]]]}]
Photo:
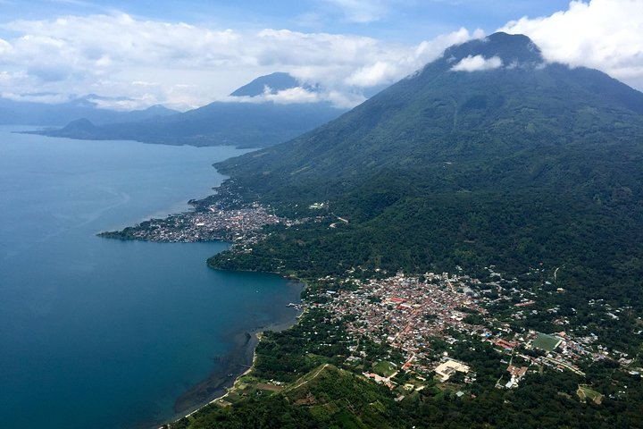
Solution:
[{"label": "larger red-roofed town at the foot of the volcano, nearest the viewer", "polygon": [[[489,272],[494,273],[492,269]],[[536,304],[533,299],[525,299],[522,291],[500,286],[513,281],[484,283],[468,275],[449,273],[397,273],[367,281],[352,277],[318,280],[339,285],[338,290],[321,288],[309,299],[308,307],[327,311],[331,324],[344,327],[347,367],[359,368],[364,376],[386,384],[391,391],[418,391],[431,379],[455,388],[461,396],[466,391],[463,386],[476,383],[478,374],[476,363],[460,357],[458,349],[474,351],[489,346],[495,352],[494,365],[505,371],[497,380],[498,389],[517,388],[526,374],[541,373],[544,367],[584,376],[583,367],[604,359],[617,363],[632,376],[640,376],[640,368],[630,367],[634,358],[608,350],[594,333],[576,334],[569,326],[556,332],[516,329],[493,315],[487,308],[498,301],[516,300],[512,297],[515,294],[522,300],[508,304],[512,309],[509,320],[520,318],[525,308]],[[496,298],[497,290],[489,293],[489,286],[505,293]],[[565,324],[555,313],[549,312],[555,324]],[[368,343],[385,346],[388,352],[368,356]],[[372,361],[372,367],[359,365],[364,361]],[[407,376],[400,379],[400,374]],[[458,383],[454,384],[454,379]],[[579,384],[578,389],[580,400],[600,404],[604,398],[604,393],[590,386]],[[627,385],[618,386],[616,392],[625,395]],[[614,399],[614,393],[610,397]]]}]

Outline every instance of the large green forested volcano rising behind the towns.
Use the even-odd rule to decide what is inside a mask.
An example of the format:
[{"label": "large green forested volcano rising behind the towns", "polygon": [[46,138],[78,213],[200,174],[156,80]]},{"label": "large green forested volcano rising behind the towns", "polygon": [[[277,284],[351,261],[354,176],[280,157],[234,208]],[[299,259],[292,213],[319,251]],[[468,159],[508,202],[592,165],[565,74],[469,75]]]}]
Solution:
[{"label": "large green forested volcano rising behind the towns", "polygon": [[642,165],[643,94],[496,33],[297,139],[217,164],[248,198],[296,216],[327,202],[349,223],[304,224],[211,263],[313,278],[564,265],[577,299],[643,304]]}]

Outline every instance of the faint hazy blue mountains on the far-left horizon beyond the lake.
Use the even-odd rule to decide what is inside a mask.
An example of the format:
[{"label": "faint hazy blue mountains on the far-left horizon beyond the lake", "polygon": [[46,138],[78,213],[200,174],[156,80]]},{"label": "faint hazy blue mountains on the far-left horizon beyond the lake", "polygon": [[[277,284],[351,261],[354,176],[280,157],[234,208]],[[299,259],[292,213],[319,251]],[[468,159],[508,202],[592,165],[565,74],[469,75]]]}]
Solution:
[{"label": "faint hazy blue mountains on the far-left horizon beyond the lake", "polygon": [[98,125],[122,121],[144,121],[154,117],[178,114],[163,105],[153,105],[145,110],[116,111],[98,108],[93,100],[102,97],[88,95],[62,104],[45,104],[13,101],[0,98],[0,124],[61,126],[80,118],[86,118]]}]

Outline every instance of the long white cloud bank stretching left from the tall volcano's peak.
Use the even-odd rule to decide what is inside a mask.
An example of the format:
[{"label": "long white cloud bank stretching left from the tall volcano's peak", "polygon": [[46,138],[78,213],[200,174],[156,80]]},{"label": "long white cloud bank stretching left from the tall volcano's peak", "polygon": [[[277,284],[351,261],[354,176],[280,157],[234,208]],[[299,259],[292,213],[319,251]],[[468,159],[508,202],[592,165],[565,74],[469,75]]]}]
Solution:
[{"label": "long white cloud bank stretching left from the tall volcano's peak", "polygon": [[[13,86],[0,80],[0,91],[94,92],[128,97],[137,108],[205,105],[273,71],[320,84],[323,95],[315,97],[355,105],[363,101],[361,88],[393,83],[448,46],[480,37],[459,29],[405,46],[354,35],[141,21],[124,13],[12,21],[0,29],[16,34],[0,40],[0,71],[22,75]],[[142,81],[154,85],[132,83]]]}]

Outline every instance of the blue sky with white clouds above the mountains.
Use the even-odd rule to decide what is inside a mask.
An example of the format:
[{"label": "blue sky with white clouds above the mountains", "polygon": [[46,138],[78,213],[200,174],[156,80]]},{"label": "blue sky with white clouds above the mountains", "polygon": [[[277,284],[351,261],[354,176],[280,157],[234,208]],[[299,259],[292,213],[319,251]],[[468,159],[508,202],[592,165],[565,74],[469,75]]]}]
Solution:
[{"label": "blue sky with white clouds above the mountains", "polygon": [[643,89],[643,0],[0,0],[0,97],[186,110],[287,71],[321,90],[272,101],[351,107],[497,30]]}]

